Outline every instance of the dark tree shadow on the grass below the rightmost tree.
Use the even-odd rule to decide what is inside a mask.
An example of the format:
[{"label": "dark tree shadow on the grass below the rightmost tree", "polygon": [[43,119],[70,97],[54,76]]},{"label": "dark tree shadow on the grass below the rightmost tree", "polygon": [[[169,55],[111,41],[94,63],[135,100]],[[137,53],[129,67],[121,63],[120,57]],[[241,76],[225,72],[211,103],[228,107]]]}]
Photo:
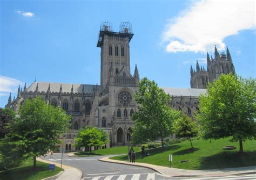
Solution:
[{"label": "dark tree shadow on the grass below the rightmost tree", "polygon": [[238,152],[222,152],[200,158],[199,169],[238,168],[256,165],[256,150],[239,154]]}]

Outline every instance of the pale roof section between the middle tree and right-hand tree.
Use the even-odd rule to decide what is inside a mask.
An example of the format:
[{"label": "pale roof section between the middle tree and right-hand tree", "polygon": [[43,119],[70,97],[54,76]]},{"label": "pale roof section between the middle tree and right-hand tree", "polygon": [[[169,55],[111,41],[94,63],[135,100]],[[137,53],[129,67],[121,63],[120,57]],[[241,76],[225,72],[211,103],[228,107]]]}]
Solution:
[{"label": "pale roof section between the middle tree and right-hand tree", "polygon": [[192,89],[192,88],[162,88],[165,93],[173,96],[194,96],[199,97],[200,94],[205,95],[206,89]]}]

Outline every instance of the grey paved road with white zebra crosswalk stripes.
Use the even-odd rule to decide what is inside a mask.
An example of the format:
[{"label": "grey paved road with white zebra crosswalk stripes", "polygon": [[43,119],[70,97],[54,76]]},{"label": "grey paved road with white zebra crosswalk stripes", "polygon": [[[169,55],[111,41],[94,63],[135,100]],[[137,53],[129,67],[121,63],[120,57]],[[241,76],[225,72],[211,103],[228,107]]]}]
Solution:
[{"label": "grey paved road with white zebra crosswalk stripes", "polygon": [[[153,180],[153,179],[256,179],[256,175],[228,176],[228,177],[165,177],[157,172],[136,167],[133,165],[116,164],[98,161],[104,156],[91,157],[69,157],[63,153],[63,164],[80,169],[83,173],[83,180]],[[41,157],[52,162],[61,162],[62,155],[55,154],[52,159],[50,155]]]}]

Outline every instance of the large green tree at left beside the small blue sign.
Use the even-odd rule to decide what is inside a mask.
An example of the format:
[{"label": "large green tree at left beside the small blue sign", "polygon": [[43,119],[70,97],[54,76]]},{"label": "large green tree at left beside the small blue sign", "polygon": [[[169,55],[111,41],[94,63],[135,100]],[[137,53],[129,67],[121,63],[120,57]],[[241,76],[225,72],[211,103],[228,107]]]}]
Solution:
[{"label": "large green tree at left beside the small blue sign", "polygon": [[2,144],[12,147],[11,152],[4,151],[3,155],[10,159],[15,154],[23,159],[33,157],[35,168],[36,157],[56,149],[58,136],[67,130],[70,119],[60,107],[47,105],[40,97],[26,99]]}]

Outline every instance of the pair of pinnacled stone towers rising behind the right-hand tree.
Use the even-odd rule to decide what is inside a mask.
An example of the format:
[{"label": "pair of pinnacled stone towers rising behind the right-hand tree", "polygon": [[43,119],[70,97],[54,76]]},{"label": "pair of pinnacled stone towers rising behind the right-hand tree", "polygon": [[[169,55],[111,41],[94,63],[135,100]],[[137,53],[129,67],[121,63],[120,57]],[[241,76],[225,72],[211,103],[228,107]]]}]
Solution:
[{"label": "pair of pinnacled stone towers rising behind the right-hand tree", "polygon": [[218,79],[221,74],[235,74],[234,65],[231,59],[230,51],[225,54],[219,54],[215,46],[214,59],[207,52],[207,69],[199,67],[197,61],[197,70],[190,67],[190,87],[196,89],[206,89],[208,82],[213,82]]}]

